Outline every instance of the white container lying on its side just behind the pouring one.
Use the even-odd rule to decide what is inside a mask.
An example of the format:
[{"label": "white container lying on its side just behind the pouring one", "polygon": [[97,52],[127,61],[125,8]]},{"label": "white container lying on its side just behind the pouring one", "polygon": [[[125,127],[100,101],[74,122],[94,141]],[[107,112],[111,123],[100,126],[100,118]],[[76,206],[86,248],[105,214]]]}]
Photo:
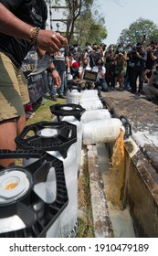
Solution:
[{"label": "white container lying on its side just behind the pouring one", "polygon": [[86,111],[81,116],[81,120],[83,123],[109,118],[111,118],[111,112],[109,112],[107,109]]}]

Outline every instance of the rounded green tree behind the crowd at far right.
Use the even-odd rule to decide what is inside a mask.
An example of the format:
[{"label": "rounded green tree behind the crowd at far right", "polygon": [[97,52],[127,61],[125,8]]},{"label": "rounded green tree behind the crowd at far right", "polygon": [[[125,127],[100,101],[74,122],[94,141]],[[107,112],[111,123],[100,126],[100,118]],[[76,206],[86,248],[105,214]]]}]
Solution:
[{"label": "rounded green tree behind the crowd at far right", "polygon": [[137,19],[128,29],[121,31],[118,43],[123,43],[124,45],[132,43],[132,45],[135,45],[137,42],[142,41],[143,35],[146,36],[146,43],[152,39],[158,38],[158,27],[152,20],[143,18]]}]

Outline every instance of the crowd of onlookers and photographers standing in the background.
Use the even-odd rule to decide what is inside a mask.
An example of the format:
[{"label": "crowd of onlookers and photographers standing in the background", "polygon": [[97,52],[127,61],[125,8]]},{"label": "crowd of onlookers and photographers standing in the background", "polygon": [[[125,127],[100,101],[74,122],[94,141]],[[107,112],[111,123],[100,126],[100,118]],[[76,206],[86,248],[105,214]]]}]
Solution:
[{"label": "crowd of onlookers and photographers standing in the background", "polygon": [[[138,96],[145,94],[147,100],[153,101],[158,96],[158,43],[152,40],[148,45],[145,42],[137,42],[135,46],[128,44],[107,47],[86,43],[85,48],[73,44],[67,48],[61,48],[58,55],[52,55],[54,65],[62,70],[62,86],[58,92],[59,97],[64,98],[69,83],[69,74],[73,82],[78,82],[81,88],[98,88],[101,91],[127,90]],[[63,67],[63,68],[62,68]],[[58,72],[60,72],[58,69]],[[91,83],[84,80],[85,70],[97,72],[97,79]],[[49,82],[50,95],[53,101],[57,101],[53,83]],[[56,93],[56,94],[55,94]]]}]

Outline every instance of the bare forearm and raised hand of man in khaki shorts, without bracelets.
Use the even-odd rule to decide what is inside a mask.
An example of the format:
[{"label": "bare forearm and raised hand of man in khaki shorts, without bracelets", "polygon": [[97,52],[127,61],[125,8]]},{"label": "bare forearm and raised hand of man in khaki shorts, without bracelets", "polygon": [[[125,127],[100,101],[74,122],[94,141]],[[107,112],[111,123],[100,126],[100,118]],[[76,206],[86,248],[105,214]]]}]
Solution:
[{"label": "bare forearm and raised hand of man in khaki shorts, without bracelets", "polygon": [[[30,41],[34,28],[17,18],[5,5],[0,3],[0,33]],[[65,37],[52,30],[40,29],[37,33],[37,48],[50,53],[58,51],[66,42]]]}]

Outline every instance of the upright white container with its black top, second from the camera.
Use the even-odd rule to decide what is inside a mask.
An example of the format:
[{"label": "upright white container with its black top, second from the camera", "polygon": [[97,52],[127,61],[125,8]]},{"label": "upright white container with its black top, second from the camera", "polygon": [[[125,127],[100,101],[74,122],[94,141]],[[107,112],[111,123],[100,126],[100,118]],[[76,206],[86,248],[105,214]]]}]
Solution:
[{"label": "upright white container with its black top, second from the camera", "polygon": [[[68,122],[35,123],[34,126],[35,127],[32,127],[32,125],[26,127],[23,136],[26,135],[27,131],[35,131],[37,129],[35,136],[33,136],[33,141],[35,139],[34,137],[36,137],[40,149],[47,151],[48,154],[54,155],[63,162],[68,190],[68,206],[63,210],[55,223],[47,230],[46,237],[67,238],[71,230],[76,226],[78,220],[78,165],[75,146],[77,142],[77,127]],[[30,137],[29,145],[32,142],[31,140],[32,137]],[[20,142],[21,141],[22,138],[20,139]],[[26,165],[34,163],[35,161],[35,158],[26,159]],[[54,179],[55,176],[51,171],[47,175],[47,183],[41,183],[36,187],[37,194],[40,194],[40,197],[43,199],[48,200],[48,203],[50,202],[51,194],[53,197],[56,197],[56,191],[53,190],[54,183],[56,182]]]}]

